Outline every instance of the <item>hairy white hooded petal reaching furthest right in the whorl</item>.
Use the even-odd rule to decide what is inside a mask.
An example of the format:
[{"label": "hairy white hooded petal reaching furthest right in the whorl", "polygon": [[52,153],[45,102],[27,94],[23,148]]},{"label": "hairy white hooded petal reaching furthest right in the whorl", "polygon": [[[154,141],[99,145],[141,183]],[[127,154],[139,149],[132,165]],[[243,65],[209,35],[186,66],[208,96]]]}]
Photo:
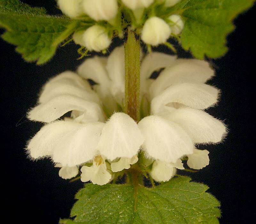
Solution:
[{"label": "hairy white hooded petal reaching furthest right in the whorl", "polygon": [[180,108],[165,118],[179,124],[195,143],[217,143],[226,135],[225,125],[201,110]]}]

